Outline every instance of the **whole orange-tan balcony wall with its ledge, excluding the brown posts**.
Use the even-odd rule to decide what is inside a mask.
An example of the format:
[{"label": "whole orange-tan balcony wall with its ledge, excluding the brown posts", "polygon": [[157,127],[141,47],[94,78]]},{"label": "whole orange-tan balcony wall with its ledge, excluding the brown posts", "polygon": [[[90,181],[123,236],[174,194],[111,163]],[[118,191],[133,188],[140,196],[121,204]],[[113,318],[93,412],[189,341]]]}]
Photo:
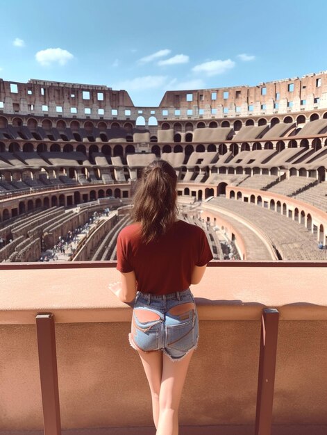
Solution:
[{"label": "whole orange-tan balcony wall with its ledge, excluding the brown posts", "polygon": [[[108,290],[119,276],[112,266],[0,265],[0,434],[43,427],[37,313],[53,313],[56,322],[65,433],[154,434],[149,387],[128,345],[131,306]],[[326,434],[327,263],[214,262],[192,291],[200,340],[181,434],[254,433],[266,307],[280,313],[273,434]]]}]

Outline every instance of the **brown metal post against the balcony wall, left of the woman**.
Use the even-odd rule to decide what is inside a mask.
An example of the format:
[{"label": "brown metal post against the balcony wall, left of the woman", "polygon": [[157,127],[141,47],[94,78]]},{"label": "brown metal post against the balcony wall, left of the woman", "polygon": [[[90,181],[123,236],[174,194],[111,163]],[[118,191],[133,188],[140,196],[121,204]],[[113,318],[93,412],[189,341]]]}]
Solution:
[{"label": "brown metal post against the balcony wall, left of the woman", "polygon": [[53,314],[37,314],[37,348],[39,352],[44,435],[60,435],[60,405]]}]

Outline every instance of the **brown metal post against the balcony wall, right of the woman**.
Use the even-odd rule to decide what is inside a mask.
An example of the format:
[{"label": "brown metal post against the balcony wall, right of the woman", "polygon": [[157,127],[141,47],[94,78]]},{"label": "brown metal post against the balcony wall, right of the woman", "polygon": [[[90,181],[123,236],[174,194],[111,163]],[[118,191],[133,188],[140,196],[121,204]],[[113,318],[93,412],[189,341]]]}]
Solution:
[{"label": "brown metal post against the balcony wall, right of the woman", "polygon": [[255,435],[271,435],[279,313],[264,309],[261,322]]}]

